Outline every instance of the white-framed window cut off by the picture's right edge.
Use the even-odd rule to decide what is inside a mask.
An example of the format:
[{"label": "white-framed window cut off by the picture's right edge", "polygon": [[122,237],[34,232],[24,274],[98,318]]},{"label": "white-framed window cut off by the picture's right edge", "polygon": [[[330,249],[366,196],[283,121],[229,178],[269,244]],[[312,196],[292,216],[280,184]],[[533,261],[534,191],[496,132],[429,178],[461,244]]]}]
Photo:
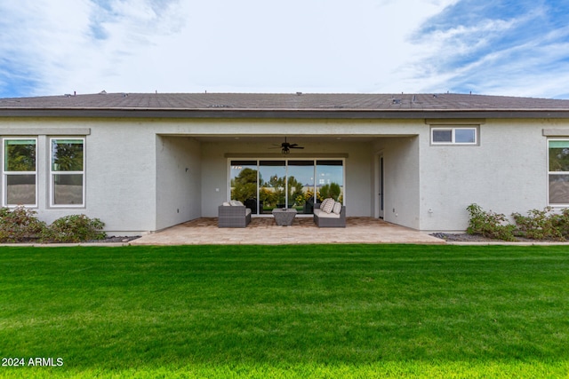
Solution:
[{"label": "white-framed window cut off by the picture's right edge", "polygon": [[569,140],[549,140],[549,204],[569,204]]}]

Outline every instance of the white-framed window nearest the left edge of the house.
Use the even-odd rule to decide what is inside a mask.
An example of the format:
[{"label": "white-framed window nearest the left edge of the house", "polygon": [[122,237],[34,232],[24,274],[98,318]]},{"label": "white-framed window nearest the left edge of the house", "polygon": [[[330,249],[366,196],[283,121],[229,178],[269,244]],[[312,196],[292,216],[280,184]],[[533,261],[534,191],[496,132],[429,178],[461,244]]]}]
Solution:
[{"label": "white-framed window nearest the left edge of the house", "polygon": [[36,206],[36,145],[36,138],[4,139],[4,205]]}]

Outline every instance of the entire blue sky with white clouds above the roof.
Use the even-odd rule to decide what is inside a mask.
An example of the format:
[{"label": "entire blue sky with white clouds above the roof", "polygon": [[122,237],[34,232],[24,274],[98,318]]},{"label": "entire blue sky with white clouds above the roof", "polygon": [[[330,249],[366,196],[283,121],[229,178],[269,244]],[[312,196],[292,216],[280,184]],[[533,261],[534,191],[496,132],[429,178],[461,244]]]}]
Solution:
[{"label": "entire blue sky with white clouds above the roof", "polygon": [[569,99],[567,0],[0,0],[0,98],[107,92]]}]

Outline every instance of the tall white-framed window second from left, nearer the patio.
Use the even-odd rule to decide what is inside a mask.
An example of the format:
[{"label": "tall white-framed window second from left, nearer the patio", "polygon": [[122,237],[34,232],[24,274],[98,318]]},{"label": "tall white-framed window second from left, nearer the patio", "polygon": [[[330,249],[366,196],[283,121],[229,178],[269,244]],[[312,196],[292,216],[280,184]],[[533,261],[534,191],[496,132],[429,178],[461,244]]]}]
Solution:
[{"label": "tall white-framed window second from left, nearer the patio", "polygon": [[84,205],[84,139],[51,139],[51,205]]}]

